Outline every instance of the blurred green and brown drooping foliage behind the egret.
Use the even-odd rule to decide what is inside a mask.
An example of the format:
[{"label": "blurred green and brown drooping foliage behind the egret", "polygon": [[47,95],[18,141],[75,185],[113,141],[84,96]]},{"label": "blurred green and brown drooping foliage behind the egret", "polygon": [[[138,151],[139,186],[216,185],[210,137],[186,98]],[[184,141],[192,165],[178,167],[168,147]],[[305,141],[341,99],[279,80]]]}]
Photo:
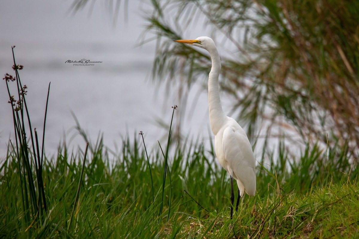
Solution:
[{"label": "blurred green and brown drooping foliage behind the egret", "polygon": [[339,141],[358,156],[359,1],[146,3],[143,43],[157,40],[154,79],[185,82],[178,86],[183,97],[194,82],[205,85],[209,55],[172,42],[197,38],[192,29],[205,28],[222,53],[220,86],[233,96],[232,115],[252,140],[287,137],[297,145],[332,147]]}]

